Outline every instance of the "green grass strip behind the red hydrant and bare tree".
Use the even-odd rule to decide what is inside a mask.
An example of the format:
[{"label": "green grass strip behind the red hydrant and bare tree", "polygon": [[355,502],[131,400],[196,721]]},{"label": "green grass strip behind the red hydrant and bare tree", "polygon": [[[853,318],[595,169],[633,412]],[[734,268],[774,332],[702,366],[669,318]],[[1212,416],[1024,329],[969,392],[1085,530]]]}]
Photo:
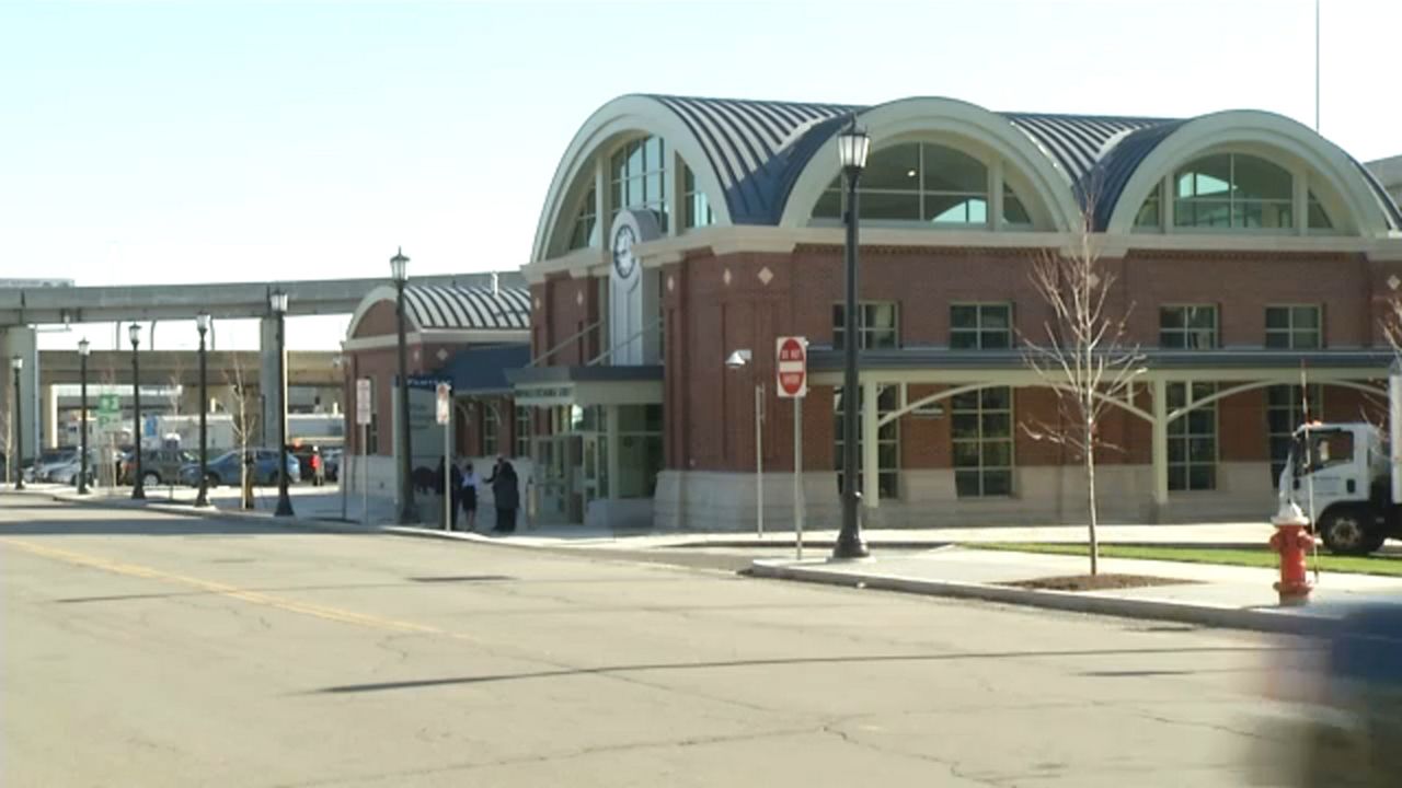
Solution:
[{"label": "green grass strip behind the red hydrant and bare tree", "polygon": [[[1087,555],[1085,544],[1054,543],[1012,543],[990,541],[969,543],[962,547],[976,550],[1002,550],[1011,552],[1042,552],[1050,555]],[[1138,558],[1141,561],[1182,561],[1185,564],[1223,564],[1228,566],[1260,566],[1276,569],[1280,559],[1262,545],[1260,550],[1210,545],[1157,545],[1157,544],[1102,544],[1101,558]],[[1314,569],[1314,557],[1309,558]],[[1343,572],[1350,575],[1385,575],[1402,578],[1402,558],[1387,555],[1328,555],[1319,552],[1321,572]]]}]

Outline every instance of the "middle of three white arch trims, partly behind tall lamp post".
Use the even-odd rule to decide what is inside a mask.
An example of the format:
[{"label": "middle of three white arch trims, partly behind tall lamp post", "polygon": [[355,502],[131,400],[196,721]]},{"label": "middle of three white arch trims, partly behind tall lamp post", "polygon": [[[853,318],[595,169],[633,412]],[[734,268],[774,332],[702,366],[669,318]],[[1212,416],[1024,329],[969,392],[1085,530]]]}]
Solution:
[{"label": "middle of three white arch trims, partly behind tall lamp post", "polygon": [[[1032,184],[1035,193],[1019,196],[1044,206],[1056,230],[1066,231],[1081,223],[1070,175],[1001,115],[953,98],[903,98],[865,109],[858,118],[872,137],[872,150],[880,149],[885,140],[921,133],[963,137],[988,147]],[[837,157],[824,144],[795,179],[780,226],[806,227],[817,198],[834,177]]]}]

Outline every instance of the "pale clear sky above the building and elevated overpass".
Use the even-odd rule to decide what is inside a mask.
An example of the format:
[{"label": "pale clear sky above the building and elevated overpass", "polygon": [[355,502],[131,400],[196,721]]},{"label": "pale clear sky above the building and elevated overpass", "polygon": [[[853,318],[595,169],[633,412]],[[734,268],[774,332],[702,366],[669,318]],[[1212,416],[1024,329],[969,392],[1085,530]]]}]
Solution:
[{"label": "pale clear sky above the building and elevated overpass", "polygon": [[[1322,132],[1402,154],[1402,3],[1322,15]],[[1312,125],[1314,1],[0,0],[0,276],[384,276],[400,244],[412,272],[516,268],[571,136],[625,93]],[[343,321],[299,322],[329,346]]]}]

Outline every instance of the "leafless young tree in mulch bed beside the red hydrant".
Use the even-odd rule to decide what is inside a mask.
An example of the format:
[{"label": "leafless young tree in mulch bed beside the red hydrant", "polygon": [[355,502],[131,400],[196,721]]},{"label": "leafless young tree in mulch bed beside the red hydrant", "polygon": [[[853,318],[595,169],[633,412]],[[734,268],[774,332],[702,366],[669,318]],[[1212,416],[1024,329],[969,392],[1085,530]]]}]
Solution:
[{"label": "leafless young tree in mulch bed beside the red hydrant", "polygon": [[1112,314],[1115,273],[1101,262],[1092,219],[1094,210],[1087,209],[1073,245],[1043,251],[1033,262],[1032,285],[1052,315],[1043,321],[1039,335],[1023,337],[1023,358],[1056,393],[1060,418],[1023,422],[1022,429],[1035,440],[1060,444],[1082,460],[1091,575],[1096,575],[1101,544],[1095,450],[1116,449],[1102,439],[1099,423],[1106,408],[1115,407],[1113,401],[1133,394],[1134,379],[1145,369],[1138,345],[1129,341],[1133,306]]}]

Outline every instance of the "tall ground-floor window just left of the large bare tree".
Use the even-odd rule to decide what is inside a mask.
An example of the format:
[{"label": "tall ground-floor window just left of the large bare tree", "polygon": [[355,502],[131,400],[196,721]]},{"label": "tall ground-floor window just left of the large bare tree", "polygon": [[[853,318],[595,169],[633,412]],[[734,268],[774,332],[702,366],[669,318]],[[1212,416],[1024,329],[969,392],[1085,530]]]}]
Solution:
[{"label": "tall ground-floor window just left of the large bare tree", "polygon": [[969,391],[949,402],[959,498],[1012,495],[1012,388]]}]

